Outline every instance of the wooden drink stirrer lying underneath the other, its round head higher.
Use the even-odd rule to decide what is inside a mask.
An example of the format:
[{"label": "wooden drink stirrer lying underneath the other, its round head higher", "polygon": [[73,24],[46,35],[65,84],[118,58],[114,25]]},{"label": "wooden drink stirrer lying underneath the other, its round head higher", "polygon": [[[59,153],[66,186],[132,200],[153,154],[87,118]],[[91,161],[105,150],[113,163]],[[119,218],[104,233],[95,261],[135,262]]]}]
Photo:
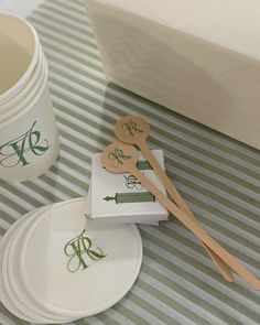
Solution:
[{"label": "wooden drink stirrer lying underneath the other, its round head higher", "polygon": [[[176,205],[185,212],[194,221],[198,223],[195,218],[192,210],[188,208],[185,201],[182,198],[181,194],[174,187],[173,183],[170,181],[161,165],[159,164],[158,160],[149,149],[147,144],[147,138],[150,134],[150,126],[149,123],[142,119],[141,117],[137,116],[126,116],[120,119],[115,126],[115,133],[118,140],[129,143],[136,144],[139,147],[141,152],[143,153],[144,158],[149,161],[151,166],[153,167],[155,174],[158,175],[159,180],[163,183],[164,187],[166,188],[171,198],[176,203]],[[210,256],[212,260],[214,261],[215,266],[221,272],[223,277],[229,281],[234,281],[234,275],[229,267],[215,253],[204,245],[204,248]]]}]

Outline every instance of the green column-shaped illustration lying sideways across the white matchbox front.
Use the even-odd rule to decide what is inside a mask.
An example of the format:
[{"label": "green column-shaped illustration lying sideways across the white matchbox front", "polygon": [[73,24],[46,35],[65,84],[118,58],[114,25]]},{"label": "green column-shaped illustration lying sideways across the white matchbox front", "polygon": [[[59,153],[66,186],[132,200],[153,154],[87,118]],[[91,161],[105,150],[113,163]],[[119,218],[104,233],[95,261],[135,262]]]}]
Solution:
[{"label": "green column-shaped illustration lying sideways across the white matchbox front", "polygon": [[119,203],[155,202],[155,196],[150,192],[116,193],[115,196],[106,196],[104,201]]}]

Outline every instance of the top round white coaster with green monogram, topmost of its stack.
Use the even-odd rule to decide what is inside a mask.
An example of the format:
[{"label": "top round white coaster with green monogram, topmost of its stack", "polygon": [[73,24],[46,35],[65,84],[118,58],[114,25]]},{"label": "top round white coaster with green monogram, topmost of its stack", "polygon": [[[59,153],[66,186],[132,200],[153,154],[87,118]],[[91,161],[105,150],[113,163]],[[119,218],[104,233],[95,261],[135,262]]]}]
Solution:
[{"label": "top round white coaster with green monogram, topmost of its stack", "polygon": [[138,228],[93,225],[83,215],[84,204],[85,198],[75,199],[43,213],[20,251],[21,279],[30,295],[69,317],[90,316],[117,303],[142,262]]}]

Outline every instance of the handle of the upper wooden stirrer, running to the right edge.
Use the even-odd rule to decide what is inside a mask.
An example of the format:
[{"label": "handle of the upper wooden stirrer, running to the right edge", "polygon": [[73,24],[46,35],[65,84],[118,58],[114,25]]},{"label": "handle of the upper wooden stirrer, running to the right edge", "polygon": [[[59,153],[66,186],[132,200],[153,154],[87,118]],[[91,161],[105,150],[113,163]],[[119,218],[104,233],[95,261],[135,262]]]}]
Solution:
[{"label": "handle of the upper wooden stirrer, running to the right edge", "polygon": [[197,223],[181,210],[172,201],[170,201],[152,182],[150,182],[136,166],[129,165],[129,172],[132,173],[142,185],[150,191],[158,201],[170,210],[180,221],[182,221],[197,238],[209,247],[226,264],[228,264],[237,274],[239,274],[248,284],[256,290],[260,290],[260,281],[248,271],[234,256],[225,250],[214,238],[212,238]]}]

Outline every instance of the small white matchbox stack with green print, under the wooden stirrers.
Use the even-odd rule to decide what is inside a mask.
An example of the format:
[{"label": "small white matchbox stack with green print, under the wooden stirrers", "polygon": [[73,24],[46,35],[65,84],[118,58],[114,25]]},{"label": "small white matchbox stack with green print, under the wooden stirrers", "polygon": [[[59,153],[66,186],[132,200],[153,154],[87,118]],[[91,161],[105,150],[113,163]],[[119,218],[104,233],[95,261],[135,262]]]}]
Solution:
[{"label": "small white matchbox stack with green print, under the wooden stirrers", "polygon": [[[153,150],[154,156],[164,169],[162,150]],[[139,152],[137,166],[166,195],[150,164]],[[167,210],[149,193],[130,173],[113,174],[101,165],[101,153],[93,155],[91,186],[85,207],[85,214],[95,223],[134,223],[158,225],[159,220],[167,220]]]}]

